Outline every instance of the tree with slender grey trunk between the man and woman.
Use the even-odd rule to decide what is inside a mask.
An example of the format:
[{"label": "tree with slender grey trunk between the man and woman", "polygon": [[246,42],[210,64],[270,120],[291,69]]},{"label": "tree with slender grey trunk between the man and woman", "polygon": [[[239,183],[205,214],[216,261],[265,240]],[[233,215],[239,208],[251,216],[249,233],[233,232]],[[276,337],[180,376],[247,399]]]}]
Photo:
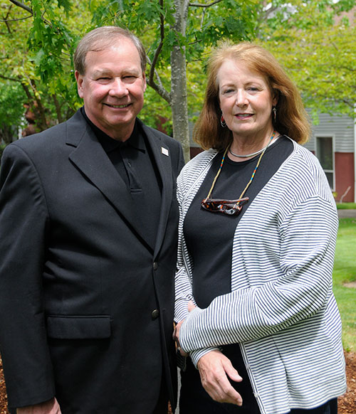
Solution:
[{"label": "tree with slender grey trunk between the man and woman", "polygon": [[[129,28],[142,38],[145,45],[149,46],[147,83],[171,108],[174,138],[182,143],[188,159],[187,65],[197,65],[206,48],[220,38],[240,40],[251,36],[253,1],[31,0],[25,4],[8,0],[6,3],[26,11],[27,17],[31,16],[28,44],[33,56],[34,75],[41,80],[41,85],[46,85],[48,92],[56,96],[57,102],[59,95],[71,102],[72,108],[78,105],[78,101],[76,98],[73,100],[73,80],[70,83],[66,81],[68,65],[73,47],[83,32],[95,26],[117,24]],[[73,24],[73,3],[76,5],[73,8],[76,24]],[[66,19],[63,18],[63,11]],[[88,18],[89,24],[80,24],[81,30],[78,31],[78,18],[83,21],[80,13],[93,18],[91,21]],[[201,73],[201,69],[198,73]],[[58,106],[55,105],[56,110]],[[61,112],[58,111],[58,120],[60,116]]]}]

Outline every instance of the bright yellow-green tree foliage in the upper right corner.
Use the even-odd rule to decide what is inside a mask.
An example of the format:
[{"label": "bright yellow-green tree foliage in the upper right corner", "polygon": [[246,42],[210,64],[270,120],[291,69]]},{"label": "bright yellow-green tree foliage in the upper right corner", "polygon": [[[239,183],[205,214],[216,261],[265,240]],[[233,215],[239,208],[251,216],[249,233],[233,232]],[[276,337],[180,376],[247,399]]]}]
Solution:
[{"label": "bright yellow-green tree foliage in the upper right corner", "polygon": [[315,122],[319,112],[354,117],[355,1],[273,1],[258,14],[258,41],[298,85]]}]

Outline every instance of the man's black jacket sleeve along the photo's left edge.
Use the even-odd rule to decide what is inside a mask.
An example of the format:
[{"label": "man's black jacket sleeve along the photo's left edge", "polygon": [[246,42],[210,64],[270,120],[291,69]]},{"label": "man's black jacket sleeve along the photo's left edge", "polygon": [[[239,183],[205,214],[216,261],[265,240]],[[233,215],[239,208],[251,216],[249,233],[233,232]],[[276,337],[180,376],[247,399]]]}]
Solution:
[{"label": "man's black jacket sleeve along the photo's left edge", "polygon": [[0,174],[0,350],[10,407],[55,395],[43,314],[48,211],[26,152],[11,144]]}]

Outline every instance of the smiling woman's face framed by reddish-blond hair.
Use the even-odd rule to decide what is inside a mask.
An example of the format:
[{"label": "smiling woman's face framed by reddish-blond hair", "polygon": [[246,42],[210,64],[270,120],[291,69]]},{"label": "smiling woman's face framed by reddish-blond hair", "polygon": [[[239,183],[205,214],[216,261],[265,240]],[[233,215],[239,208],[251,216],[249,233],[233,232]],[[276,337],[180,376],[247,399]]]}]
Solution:
[{"label": "smiling woman's face framed by reddish-blond hair", "polygon": [[227,59],[221,65],[219,83],[220,109],[234,137],[263,137],[273,129],[271,95],[264,76],[253,72],[239,60]]}]

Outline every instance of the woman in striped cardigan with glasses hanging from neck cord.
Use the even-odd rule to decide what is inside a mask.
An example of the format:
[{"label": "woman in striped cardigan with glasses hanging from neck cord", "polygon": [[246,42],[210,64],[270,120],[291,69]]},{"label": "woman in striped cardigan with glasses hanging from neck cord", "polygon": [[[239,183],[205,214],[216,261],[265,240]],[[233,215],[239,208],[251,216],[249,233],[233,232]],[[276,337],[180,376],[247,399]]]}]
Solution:
[{"label": "woman in striped cardigan with glasses hanging from neck cord", "polygon": [[177,182],[180,414],[337,413],[337,212],[309,133],[270,53],[216,49],[194,131],[206,151]]}]

